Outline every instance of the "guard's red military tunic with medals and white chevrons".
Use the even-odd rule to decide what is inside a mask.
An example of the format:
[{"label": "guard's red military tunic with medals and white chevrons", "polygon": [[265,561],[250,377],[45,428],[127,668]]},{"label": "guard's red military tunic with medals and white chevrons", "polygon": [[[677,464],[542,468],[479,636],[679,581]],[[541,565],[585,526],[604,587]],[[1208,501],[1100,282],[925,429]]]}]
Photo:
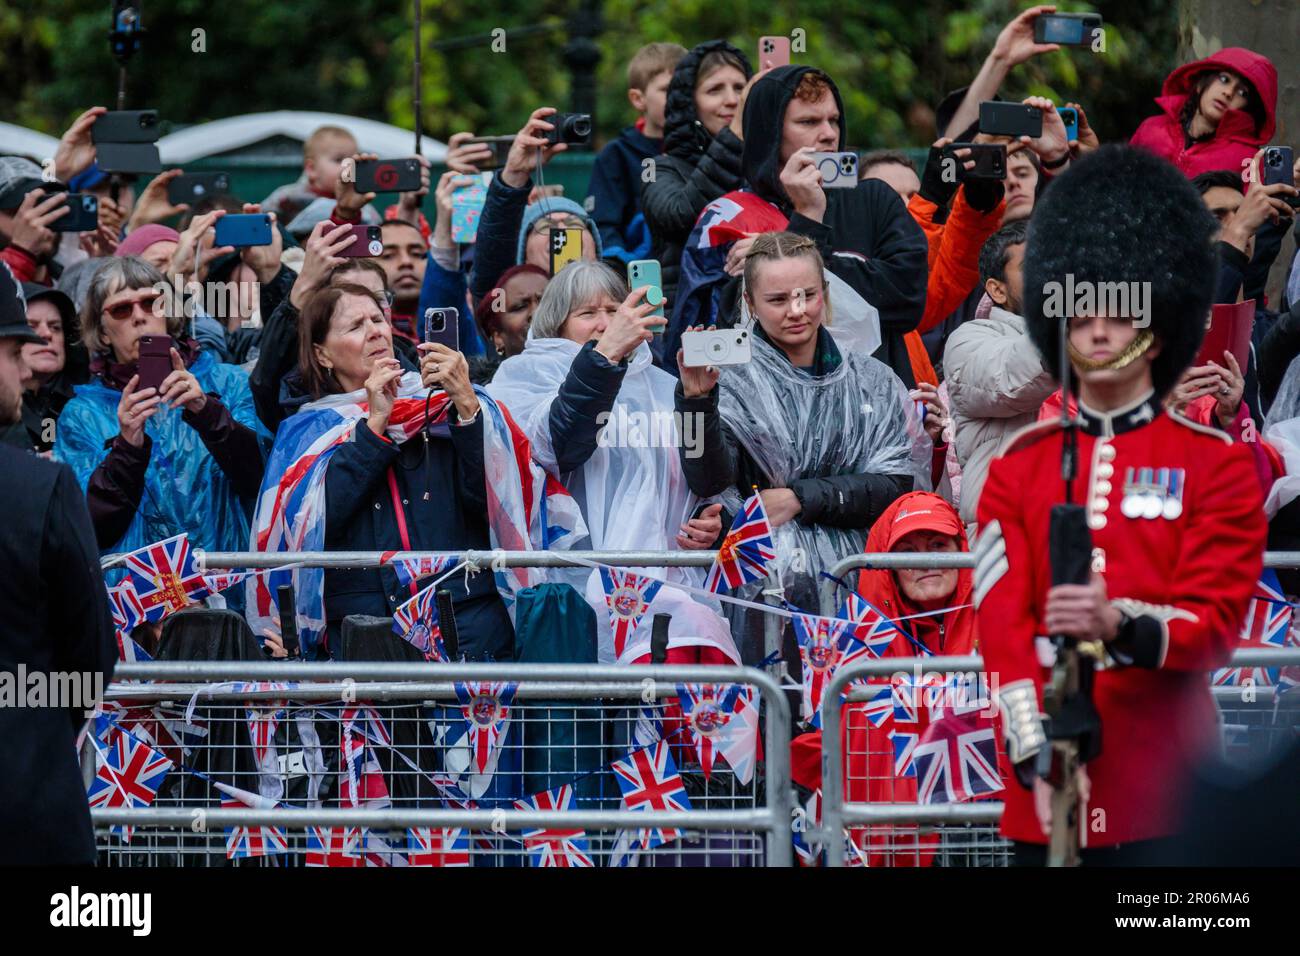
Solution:
[{"label": "guard's red military tunic with medals and white chevrons", "polygon": [[[1080,419],[1072,501],[1088,510],[1093,570],[1134,618],[1126,640],[1108,645],[1093,693],[1101,756],[1087,765],[1080,842],[1106,847],[1178,826],[1183,780],[1217,741],[1208,671],[1236,645],[1266,524],[1251,453],[1221,432],[1149,398],[1109,415],[1080,408]],[[1050,644],[1036,639],[1052,584],[1049,515],[1063,501],[1062,434],[1044,421],[1017,436],[989,467],[978,509],[980,643],[1013,753],[1013,737],[1035,736],[1050,674]],[[1002,834],[1046,843],[1032,792],[1009,766],[1004,774]]]}]

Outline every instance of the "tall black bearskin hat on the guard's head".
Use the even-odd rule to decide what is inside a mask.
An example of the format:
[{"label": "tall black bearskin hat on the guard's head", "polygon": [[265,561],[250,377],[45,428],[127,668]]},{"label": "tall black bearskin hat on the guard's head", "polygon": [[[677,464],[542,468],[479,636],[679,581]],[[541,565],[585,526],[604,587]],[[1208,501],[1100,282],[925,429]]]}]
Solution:
[{"label": "tall black bearskin hat on the guard's head", "polygon": [[1161,346],[1152,382],[1157,398],[1173,389],[1205,337],[1217,229],[1191,182],[1154,153],[1104,146],[1071,163],[1036,204],[1024,248],[1024,319],[1056,380],[1061,319],[1053,293],[1056,303],[1070,304],[1061,290],[1092,284],[1096,295],[1117,287],[1101,284],[1148,282],[1147,317]]}]

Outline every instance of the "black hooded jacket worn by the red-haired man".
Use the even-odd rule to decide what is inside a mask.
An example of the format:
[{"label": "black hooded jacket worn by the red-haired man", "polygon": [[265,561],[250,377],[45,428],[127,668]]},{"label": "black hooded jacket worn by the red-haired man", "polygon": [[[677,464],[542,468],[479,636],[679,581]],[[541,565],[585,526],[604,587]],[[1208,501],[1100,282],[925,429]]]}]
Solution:
[{"label": "black hooded jacket worn by the red-haired man", "polygon": [[[745,181],[749,189],[789,217],[789,232],[816,242],[827,269],[880,311],[881,342],[875,358],[913,388],[916,381],[904,336],[916,328],[926,311],[926,234],[898,194],[880,179],[863,179],[852,190],[828,190],[820,222],[794,212],[781,187],[785,108],[803,74],[812,70],[811,66],[779,66],[750,88],[745,100]],[[833,82],[831,92],[840,108],[836,148],[844,150],[848,135],[844,101]]]}]

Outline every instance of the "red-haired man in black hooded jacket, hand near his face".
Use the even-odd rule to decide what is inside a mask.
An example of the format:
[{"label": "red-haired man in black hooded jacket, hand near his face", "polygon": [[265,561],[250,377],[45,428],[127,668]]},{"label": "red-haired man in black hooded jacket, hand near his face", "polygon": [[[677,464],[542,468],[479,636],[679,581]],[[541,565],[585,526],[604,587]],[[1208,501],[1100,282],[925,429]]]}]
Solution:
[{"label": "red-haired man in black hooded jacket, hand near his face", "polygon": [[[789,217],[789,232],[816,242],[832,273],[879,310],[875,358],[914,388],[904,336],[926,310],[926,235],[880,179],[822,189],[811,153],[841,151],[845,138],[844,103],[831,77],[811,66],[780,66],[754,83],[745,101],[745,181]],[[728,272],[733,263],[744,265],[749,242],[736,242]]]}]

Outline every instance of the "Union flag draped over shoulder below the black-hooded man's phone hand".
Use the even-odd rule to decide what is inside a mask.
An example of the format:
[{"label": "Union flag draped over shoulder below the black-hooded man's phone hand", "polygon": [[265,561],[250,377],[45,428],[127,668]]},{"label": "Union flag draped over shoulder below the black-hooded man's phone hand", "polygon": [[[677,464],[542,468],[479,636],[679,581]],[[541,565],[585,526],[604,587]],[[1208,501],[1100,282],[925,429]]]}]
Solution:
[{"label": "Union flag draped over shoulder below the black-hooded man's phone hand", "polygon": [[[718,323],[722,290],[731,278],[723,267],[732,243],[754,233],[785,229],[788,224],[780,209],[745,191],[719,196],[701,211],[682,248],[677,299],[664,333],[664,355],[677,354],[682,329]],[[664,367],[673,371],[677,363],[666,362]]]}]

